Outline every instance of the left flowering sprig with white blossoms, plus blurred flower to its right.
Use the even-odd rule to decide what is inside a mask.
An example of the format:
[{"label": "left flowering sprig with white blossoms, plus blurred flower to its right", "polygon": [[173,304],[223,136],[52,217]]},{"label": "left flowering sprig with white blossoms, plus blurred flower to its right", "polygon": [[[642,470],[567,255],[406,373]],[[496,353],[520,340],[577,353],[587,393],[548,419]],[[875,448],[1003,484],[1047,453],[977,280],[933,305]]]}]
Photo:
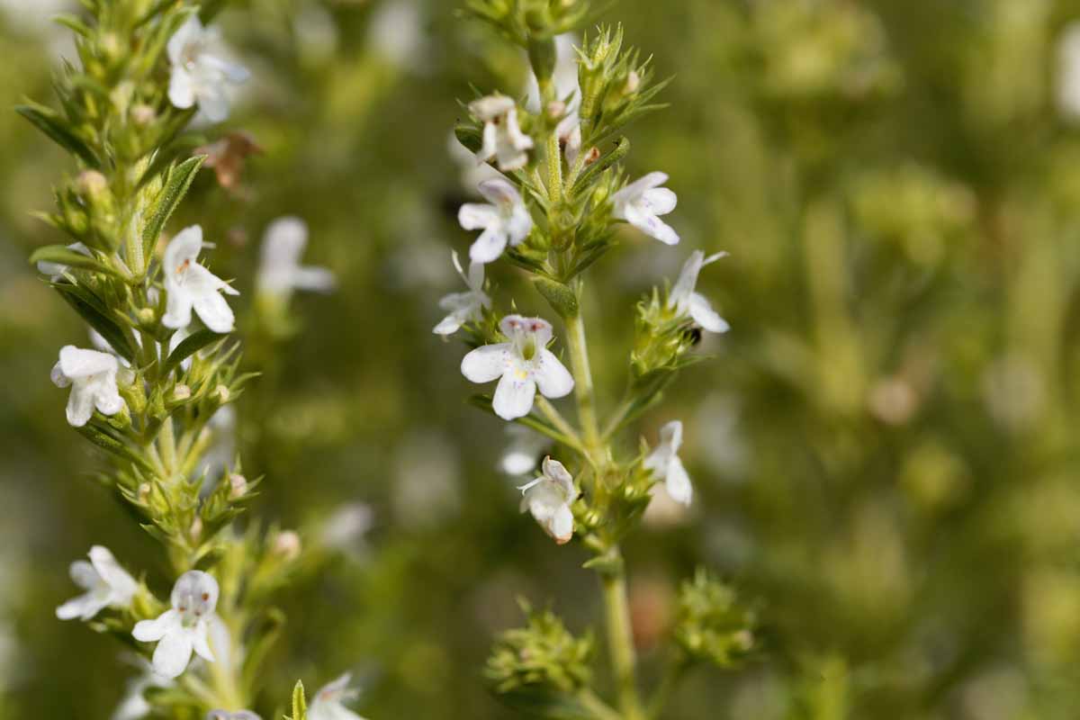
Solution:
[{"label": "left flowering sprig with white blossoms, plus blurred flower to its right", "polygon": [[[238,291],[210,269],[214,243],[200,226],[166,234],[205,160],[187,155],[198,144],[189,123],[224,120],[248,74],[208,25],[221,4],[83,0],[83,15],[59,18],[79,54],[57,74],[59,109],[18,108],[78,165],[55,210],[40,214],[65,239],[30,260],[95,348],[63,348],[52,380],[69,389],[67,422],[109,458],[102,483],[161,543],[171,573],[151,589],[95,545],[71,566],[83,593],[56,610],[143,654],[147,673],[122,717],[257,718],[283,622],[273,595],[300,554],[295,532],[233,525],[259,484],[239,460],[224,470],[210,460],[228,425],[212,419],[253,377],[229,338]],[[264,289],[328,286],[323,271],[296,266],[302,242],[265,258]]]}]

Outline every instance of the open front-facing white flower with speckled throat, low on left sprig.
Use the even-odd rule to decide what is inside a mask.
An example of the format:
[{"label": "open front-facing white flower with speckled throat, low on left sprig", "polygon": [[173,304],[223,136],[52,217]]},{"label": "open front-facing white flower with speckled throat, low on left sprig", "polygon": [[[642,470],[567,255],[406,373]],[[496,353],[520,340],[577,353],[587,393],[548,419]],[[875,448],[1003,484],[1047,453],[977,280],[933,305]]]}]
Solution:
[{"label": "open front-facing white flower with speckled throat, low on left sprig", "polygon": [[176,581],[170,598],[172,609],[157,620],[144,620],[132,635],[140,642],[158,642],[153,651],[153,671],[166,678],[179,677],[194,650],[214,662],[210,648],[210,627],[215,617],[218,586],[213,575],[190,570]]}]

